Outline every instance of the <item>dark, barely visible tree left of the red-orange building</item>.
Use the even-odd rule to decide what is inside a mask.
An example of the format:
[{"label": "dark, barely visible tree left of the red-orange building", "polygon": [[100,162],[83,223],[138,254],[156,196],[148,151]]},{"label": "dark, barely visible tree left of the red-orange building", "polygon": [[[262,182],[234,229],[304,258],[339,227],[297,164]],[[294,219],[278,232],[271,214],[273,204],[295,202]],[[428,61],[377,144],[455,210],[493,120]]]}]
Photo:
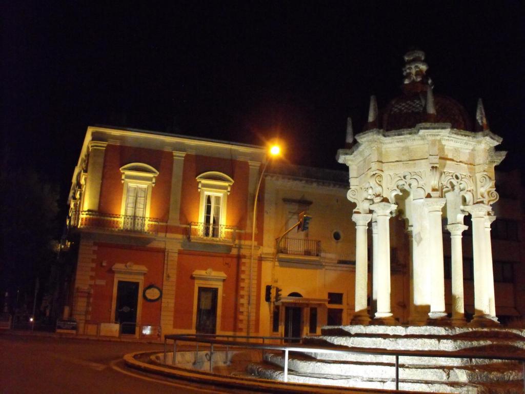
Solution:
[{"label": "dark, barely visible tree left of the red-orange building", "polygon": [[29,169],[4,171],[1,181],[0,290],[13,307],[17,290],[32,295],[37,277],[46,283],[56,258],[58,188]]}]

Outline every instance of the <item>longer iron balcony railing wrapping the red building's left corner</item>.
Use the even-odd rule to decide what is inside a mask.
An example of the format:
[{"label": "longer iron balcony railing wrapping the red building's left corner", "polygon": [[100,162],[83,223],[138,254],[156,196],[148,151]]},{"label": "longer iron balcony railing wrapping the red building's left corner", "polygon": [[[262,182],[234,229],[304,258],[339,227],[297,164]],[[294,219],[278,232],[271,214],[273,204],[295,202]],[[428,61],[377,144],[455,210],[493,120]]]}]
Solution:
[{"label": "longer iron balcony railing wrapping the red building's left corner", "polygon": [[159,219],[154,217],[116,215],[92,211],[72,212],[69,225],[79,229],[104,229],[154,235],[159,233]]}]

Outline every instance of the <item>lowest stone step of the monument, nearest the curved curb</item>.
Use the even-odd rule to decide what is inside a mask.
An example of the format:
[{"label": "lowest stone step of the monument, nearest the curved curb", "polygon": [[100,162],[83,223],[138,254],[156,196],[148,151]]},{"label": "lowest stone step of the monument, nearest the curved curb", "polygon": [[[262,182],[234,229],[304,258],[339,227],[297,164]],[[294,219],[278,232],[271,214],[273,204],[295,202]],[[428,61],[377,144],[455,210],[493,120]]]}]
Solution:
[{"label": "lowest stone step of the monument, nearest the curved curb", "polygon": [[[277,368],[268,364],[250,364],[248,372],[257,378],[284,380],[282,368]],[[343,386],[367,389],[395,389],[393,379],[381,378],[361,378],[343,375],[323,375],[323,374],[303,374],[301,372],[288,371],[288,381],[296,383],[309,383],[313,385]],[[516,385],[515,385],[516,386]],[[417,381],[400,379],[400,390],[410,390],[419,392],[447,392],[461,394],[485,394],[486,390],[481,385],[474,383],[450,383],[439,381]],[[520,391],[506,391],[506,394],[518,394]]]}]

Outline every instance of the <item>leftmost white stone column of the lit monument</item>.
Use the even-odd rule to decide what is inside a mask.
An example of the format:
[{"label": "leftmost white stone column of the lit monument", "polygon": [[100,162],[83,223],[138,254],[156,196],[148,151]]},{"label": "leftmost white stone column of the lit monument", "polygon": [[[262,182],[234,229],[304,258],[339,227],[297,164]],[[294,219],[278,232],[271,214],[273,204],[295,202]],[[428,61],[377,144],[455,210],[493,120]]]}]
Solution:
[{"label": "leftmost white stone column of the lit monument", "polygon": [[370,213],[354,213],[355,222],[355,314],[350,324],[368,324],[370,317],[366,310],[368,295],[368,242],[366,231]]}]

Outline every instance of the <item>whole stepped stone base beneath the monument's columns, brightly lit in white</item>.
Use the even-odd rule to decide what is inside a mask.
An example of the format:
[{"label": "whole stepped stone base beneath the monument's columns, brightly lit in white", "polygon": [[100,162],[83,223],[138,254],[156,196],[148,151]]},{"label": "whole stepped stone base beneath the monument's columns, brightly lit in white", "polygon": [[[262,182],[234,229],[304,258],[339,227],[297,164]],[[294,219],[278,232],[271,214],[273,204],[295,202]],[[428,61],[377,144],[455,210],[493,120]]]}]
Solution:
[{"label": "whole stepped stone base beneath the monument's columns, brightly lit in white", "polygon": [[[486,358],[400,356],[400,389],[457,393],[522,393],[519,362],[491,359],[491,355],[525,355],[525,330],[471,327],[337,326],[304,344],[344,346],[363,350],[450,351]],[[283,379],[281,353],[267,353],[265,363],[248,371],[257,377]],[[395,357],[390,355],[291,352],[290,382],[344,387],[394,389]]]}]

